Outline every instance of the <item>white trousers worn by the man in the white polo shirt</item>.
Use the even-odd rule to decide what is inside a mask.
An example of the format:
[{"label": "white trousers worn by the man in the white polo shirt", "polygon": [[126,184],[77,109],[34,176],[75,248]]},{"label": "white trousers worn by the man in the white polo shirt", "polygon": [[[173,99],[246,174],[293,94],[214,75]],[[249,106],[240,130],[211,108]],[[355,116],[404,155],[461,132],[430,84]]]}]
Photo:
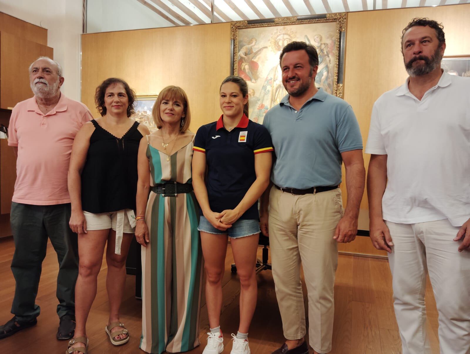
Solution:
[{"label": "white trousers worn by the man in the white polo shirt", "polygon": [[442,354],[470,353],[470,251],[458,252],[459,227],[447,219],[419,224],[386,221],[395,315],[403,354],[430,353],[424,291],[429,272],[439,312]]}]

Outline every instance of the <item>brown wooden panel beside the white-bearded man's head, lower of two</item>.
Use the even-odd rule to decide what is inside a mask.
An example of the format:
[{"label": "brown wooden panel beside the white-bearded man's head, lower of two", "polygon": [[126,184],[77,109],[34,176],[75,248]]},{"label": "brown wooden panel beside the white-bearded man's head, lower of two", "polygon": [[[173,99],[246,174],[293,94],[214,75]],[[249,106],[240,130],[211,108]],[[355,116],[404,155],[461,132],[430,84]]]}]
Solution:
[{"label": "brown wooden panel beside the white-bearded man's head, lower of two", "polygon": [[32,97],[28,68],[38,56],[54,57],[54,49],[0,32],[0,108]]}]

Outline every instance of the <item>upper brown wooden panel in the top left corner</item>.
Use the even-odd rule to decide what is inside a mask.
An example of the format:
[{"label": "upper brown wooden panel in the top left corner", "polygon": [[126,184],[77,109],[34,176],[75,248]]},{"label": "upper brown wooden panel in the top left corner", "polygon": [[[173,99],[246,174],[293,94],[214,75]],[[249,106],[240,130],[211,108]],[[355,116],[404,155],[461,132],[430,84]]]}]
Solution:
[{"label": "upper brown wooden panel in the top left corner", "polygon": [[47,29],[0,12],[0,32],[47,46]]}]

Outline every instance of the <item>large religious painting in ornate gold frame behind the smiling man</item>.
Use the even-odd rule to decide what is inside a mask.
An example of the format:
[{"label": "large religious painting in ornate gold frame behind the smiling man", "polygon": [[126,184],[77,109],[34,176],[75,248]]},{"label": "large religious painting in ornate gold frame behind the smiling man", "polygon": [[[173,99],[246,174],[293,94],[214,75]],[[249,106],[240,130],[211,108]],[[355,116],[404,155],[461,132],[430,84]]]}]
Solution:
[{"label": "large religious painting in ornate gold frame behind the smiling man", "polygon": [[262,123],[269,108],[287,94],[282,85],[279,55],[294,40],[317,48],[317,87],[343,97],[346,18],[343,12],[231,23],[232,73],[248,83],[251,120]]}]

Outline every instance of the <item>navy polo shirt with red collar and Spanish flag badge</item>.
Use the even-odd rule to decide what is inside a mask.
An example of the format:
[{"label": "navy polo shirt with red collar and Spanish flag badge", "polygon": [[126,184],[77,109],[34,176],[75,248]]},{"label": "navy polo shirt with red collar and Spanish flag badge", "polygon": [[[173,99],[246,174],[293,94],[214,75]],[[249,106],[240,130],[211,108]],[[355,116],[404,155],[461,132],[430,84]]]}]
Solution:
[{"label": "navy polo shirt with red collar and Spanish flag badge", "polygon": [[[261,124],[243,114],[238,125],[228,131],[219,121],[197,130],[193,150],[206,154],[206,187],[211,210],[235,209],[256,180],[255,154],[274,151],[271,137]],[[258,219],[258,203],[240,219]]]}]

